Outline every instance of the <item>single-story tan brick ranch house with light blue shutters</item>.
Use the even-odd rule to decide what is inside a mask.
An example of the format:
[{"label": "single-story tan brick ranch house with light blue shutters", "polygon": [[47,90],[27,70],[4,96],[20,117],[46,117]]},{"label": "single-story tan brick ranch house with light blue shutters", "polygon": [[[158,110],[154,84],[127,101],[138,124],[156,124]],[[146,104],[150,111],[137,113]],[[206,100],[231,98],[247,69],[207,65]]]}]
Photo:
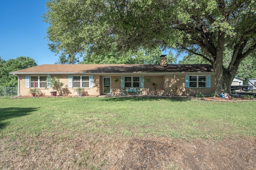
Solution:
[{"label": "single-story tan brick ranch house with light blue shutters", "polygon": [[176,86],[180,96],[207,95],[216,89],[211,65],[166,64],[166,58],[161,58],[160,64],[42,64],[10,74],[18,77],[19,96],[28,96],[30,88],[50,96],[52,89],[45,90],[47,76],[56,76],[64,83],[62,94],[57,95],[69,96],[76,96],[77,87],[92,96],[120,95],[124,88],[141,88],[143,95],[163,96],[174,95]]}]

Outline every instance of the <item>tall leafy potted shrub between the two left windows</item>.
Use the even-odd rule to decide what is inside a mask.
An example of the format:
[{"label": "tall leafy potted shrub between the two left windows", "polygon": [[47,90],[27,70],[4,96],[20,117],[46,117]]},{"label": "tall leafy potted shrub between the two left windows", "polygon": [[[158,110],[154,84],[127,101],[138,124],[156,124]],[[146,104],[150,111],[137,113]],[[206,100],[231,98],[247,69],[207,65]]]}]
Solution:
[{"label": "tall leafy potted shrub between the two left windows", "polygon": [[[64,85],[63,82],[60,82],[60,79],[57,77],[50,77],[49,75],[46,78],[47,87],[45,88],[48,90],[48,87],[52,88],[51,96],[56,96],[57,92],[61,92],[62,86]],[[56,90],[56,91],[55,91]]]}]

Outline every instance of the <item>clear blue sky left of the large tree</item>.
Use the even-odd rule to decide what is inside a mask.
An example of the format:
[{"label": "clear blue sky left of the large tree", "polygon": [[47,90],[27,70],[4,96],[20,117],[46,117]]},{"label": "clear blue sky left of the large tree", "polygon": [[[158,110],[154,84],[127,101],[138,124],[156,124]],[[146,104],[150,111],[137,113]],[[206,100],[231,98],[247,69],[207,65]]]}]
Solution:
[{"label": "clear blue sky left of the large tree", "polygon": [[54,64],[58,59],[48,48],[48,24],[42,16],[46,0],[2,0],[0,5],[0,57],[30,57],[40,64]]}]

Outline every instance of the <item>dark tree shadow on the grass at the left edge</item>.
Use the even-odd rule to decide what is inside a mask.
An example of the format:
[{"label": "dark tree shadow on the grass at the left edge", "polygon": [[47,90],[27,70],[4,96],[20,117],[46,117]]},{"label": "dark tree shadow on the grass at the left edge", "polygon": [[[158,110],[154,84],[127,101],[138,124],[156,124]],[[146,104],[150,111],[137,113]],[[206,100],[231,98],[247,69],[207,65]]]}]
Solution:
[{"label": "dark tree shadow on the grass at the left edge", "polygon": [[38,108],[35,107],[8,107],[1,109],[0,112],[0,129],[6,127],[8,123],[3,123],[4,120],[12,119],[14,117],[21,117],[29,115],[30,112],[36,111]]}]

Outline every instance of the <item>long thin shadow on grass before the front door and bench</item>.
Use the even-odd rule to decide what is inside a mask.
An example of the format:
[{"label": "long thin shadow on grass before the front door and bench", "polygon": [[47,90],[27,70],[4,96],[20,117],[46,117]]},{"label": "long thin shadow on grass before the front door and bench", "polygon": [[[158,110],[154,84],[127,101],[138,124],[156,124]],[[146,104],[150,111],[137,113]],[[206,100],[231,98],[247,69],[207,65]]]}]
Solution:
[{"label": "long thin shadow on grass before the front door and bench", "polygon": [[108,102],[126,102],[126,101],[161,101],[166,100],[170,102],[186,102],[190,101],[192,98],[189,96],[156,96],[156,97],[141,97],[141,96],[132,96],[132,97],[110,97],[104,98]]}]

